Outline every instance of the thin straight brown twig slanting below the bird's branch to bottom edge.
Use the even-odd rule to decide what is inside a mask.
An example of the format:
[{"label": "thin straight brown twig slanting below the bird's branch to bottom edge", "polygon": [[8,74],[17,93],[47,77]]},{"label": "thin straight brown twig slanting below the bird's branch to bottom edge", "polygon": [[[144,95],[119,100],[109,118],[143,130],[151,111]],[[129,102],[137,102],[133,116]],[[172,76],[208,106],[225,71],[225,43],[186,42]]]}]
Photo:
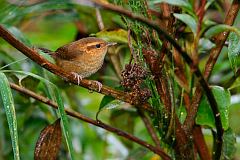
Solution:
[{"label": "thin straight brown twig slanting below the bird's branch to bottom edge", "polygon": [[[45,104],[51,106],[54,109],[58,109],[58,106],[57,106],[57,104],[55,102],[51,101],[50,99],[48,99],[48,98],[46,98],[44,96],[36,94],[35,92],[33,92],[31,90],[28,90],[26,88],[20,87],[20,86],[14,84],[14,83],[10,83],[10,86],[11,86],[12,89],[14,89],[16,91],[19,91],[19,92],[21,92],[21,93],[23,93],[23,94],[25,94],[27,96],[30,96],[30,97],[32,97],[32,98],[34,98],[34,99],[36,99],[36,100],[38,100],[38,101],[40,101],[42,103],[45,103]],[[126,133],[126,132],[124,132],[124,131],[122,131],[122,130],[120,130],[118,128],[114,128],[112,126],[109,126],[109,125],[107,125],[107,124],[105,124],[103,122],[93,120],[93,119],[91,119],[91,118],[89,118],[89,117],[87,117],[87,116],[85,116],[85,115],[83,115],[83,114],[81,114],[79,112],[76,112],[76,111],[74,111],[72,109],[69,109],[69,107],[67,109],[65,109],[65,112],[68,115],[72,116],[72,117],[75,117],[77,119],[80,119],[82,121],[90,123],[92,125],[101,127],[101,128],[103,128],[103,129],[105,129],[107,131],[113,132],[113,133],[115,133],[115,134],[117,134],[117,135],[119,135],[121,137],[124,137],[124,138],[126,138],[126,139],[128,139],[130,141],[133,141],[133,142],[135,142],[135,143],[137,143],[139,145],[142,145],[142,146],[148,148],[149,150],[151,150],[152,152],[160,155],[165,160],[170,160],[171,159],[162,149],[156,148],[156,147],[152,146],[151,144],[148,144],[147,142],[145,142],[145,141],[135,137],[132,134]]]}]

